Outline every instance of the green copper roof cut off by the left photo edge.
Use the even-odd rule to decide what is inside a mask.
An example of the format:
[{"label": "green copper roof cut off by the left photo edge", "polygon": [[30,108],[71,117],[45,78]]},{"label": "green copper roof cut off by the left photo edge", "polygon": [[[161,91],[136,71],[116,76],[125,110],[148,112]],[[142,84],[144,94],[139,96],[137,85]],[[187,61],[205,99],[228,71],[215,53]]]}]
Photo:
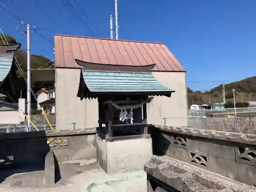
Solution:
[{"label": "green copper roof cut off by the left photo edge", "polygon": [[11,70],[13,53],[0,54],[0,86]]}]

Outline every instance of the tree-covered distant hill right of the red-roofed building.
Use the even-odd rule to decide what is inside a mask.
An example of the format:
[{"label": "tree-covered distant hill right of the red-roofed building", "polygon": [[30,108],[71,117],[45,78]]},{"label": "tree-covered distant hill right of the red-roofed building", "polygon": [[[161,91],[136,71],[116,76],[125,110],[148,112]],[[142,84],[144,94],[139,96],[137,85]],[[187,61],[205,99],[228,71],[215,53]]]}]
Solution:
[{"label": "tree-covered distant hill right of the red-roofed building", "polygon": [[[193,104],[193,98],[195,104],[209,103],[209,101],[223,102],[222,89],[222,84],[206,92],[193,91],[187,88],[188,106]],[[236,90],[236,101],[256,101],[256,76],[225,84],[226,102],[233,102],[232,89]]]}]

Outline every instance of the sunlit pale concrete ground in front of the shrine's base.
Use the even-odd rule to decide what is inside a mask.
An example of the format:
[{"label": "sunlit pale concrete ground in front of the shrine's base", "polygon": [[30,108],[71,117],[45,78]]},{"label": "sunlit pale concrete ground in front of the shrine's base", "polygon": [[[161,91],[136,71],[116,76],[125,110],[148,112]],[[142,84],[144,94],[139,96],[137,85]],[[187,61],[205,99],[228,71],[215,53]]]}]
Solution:
[{"label": "sunlit pale concrete ground in front of the shrine's base", "polygon": [[[60,163],[61,180],[54,187],[43,185],[44,170],[18,174],[6,173],[1,192],[146,192],[144,171],[106,174],[95,160]],[[15,170],[12,170],[15,173]],[[3,172],[1,172],[2,175]],[[0,175],[1,175],[0,174]]]}]

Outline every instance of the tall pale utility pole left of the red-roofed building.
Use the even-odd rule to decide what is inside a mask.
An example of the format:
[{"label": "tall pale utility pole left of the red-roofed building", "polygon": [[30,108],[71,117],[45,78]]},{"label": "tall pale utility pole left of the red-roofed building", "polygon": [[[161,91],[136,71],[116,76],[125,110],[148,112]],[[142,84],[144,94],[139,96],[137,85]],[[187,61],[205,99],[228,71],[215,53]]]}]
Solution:
[{"label": "tall pale utility pole left of the red-roofed building", "polygon": [[27,116],[28,116],[28,127],[31,130],[31,66],[30,66],[30,25],[27,24]]}]

